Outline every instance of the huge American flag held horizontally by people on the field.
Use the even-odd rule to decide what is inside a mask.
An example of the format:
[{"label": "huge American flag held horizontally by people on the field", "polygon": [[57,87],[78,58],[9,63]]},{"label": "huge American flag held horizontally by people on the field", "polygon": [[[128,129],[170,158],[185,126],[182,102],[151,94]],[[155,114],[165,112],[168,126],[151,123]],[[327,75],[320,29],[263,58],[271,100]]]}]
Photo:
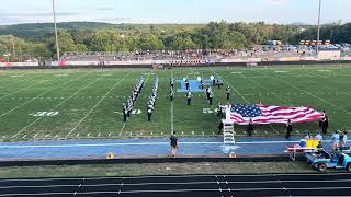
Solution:
[{"label": "huge American flag held horizontally by people on the field", "polygon": [[237,125],[256,125],[317,121],[322,114],[312,107],[282,107],[269,105],[233,105],[230,119]]}]

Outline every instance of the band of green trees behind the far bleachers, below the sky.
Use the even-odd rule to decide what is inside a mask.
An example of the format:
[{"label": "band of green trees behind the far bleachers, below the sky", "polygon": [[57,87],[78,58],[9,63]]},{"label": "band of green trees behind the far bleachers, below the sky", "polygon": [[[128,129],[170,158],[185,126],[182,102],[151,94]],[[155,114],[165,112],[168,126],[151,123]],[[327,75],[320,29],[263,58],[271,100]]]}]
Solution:
[{"label": "band of green trees behind the far bleachers, below the sky", "polygon": [[[156,51],[184,49],[244,49],[265,44],[270,39],[297,44],[301,39],[316,39],[316,26],[295,26],[258,23],[211,22],[206,25],[118,25],[65,23],[59,25],[59,47],[66,51]],[[0,36],[0,56],[11,59],[55,57],[56,43],[48,24],[41,38],[35,37],[41,25],[32,25],[26,35]],[[83,27],[80,27],[83,26]],[[89,28],[91,26],[91,28]],[[12,28],[14,32],[24,27]],[[45,31],[44,31],[45,32]],[[1,31],[0,31],[1,33]],[[351,23],[321,27],[321,39],[351,43]],[[34,34],[31,38],[31,34]],[[35,38],[33,38],[35,37]],[[1,58],[1,57],[0,57]]]}]

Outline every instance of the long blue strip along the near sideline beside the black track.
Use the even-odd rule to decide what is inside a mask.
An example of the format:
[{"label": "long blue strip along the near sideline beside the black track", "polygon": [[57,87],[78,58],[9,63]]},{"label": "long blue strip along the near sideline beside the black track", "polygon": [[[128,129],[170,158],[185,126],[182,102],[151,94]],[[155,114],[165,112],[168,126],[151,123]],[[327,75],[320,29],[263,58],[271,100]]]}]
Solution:
[{"label": "long blue strip along the near sideline beside the black track", "polygon": [[[184,157],[224,157],[231,151],[239,155],[282,154],[287,144],[298,141],[297,138],[288,141],[282,138],[241,138],[237,139],[237,146],[224,147],[220,138],[180,138],[178,153]],[[330,149],[329,142],[325,143],[325,148]],[[116,157],[167,157],[170,147],[167,138],[0,143],[0,160],[105,158],[110,152]]]}]

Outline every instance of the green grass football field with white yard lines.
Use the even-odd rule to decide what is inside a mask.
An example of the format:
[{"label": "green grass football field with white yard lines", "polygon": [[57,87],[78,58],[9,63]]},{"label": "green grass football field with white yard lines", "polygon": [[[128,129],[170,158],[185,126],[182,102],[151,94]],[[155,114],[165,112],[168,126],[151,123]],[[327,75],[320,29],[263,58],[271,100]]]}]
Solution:
[{"label": "green grass football field with white yard lines", "polygon": [[[231,86],[231,103],[283,106],[313,106],[326,109],[330,129],[351,130],[351,66],[292,66],[284,68],[202,68],[174,70],[83,69],[0,71],[1,141],[65,139],[129,139],[167,137],[172,130],[183,137],[217,136],[215,114],[204,93],[194,93],[185,105],[185,93],[168,99],[169,79],[199,76],[220,77]],[[124,124],[122,103],[135,82],[144,76],[145,88],[133,115]],[[155,76],[159,77],[159,97],[152,121],[145,114]],[[225,88],[214,89],[214,107],[225,103]],[[315,132],[317,124],[295,126],[295,135]],[[282,136],[284,126],[260,126],[258,136]],[[245,136],[245,127],[236,127]]]}]

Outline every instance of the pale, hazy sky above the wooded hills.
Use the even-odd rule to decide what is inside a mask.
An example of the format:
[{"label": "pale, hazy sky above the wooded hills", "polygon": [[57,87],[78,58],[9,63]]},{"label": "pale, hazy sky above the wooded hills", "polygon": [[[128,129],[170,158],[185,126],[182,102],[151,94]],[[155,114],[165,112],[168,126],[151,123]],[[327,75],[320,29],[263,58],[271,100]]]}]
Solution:
[{"label": "pale, hazy sky above the wooded hills", "polygon": [[[0,0],[0,25],[53,22],[52,0]],[[318,0],[55,0],[57,21],[316,24]],[[351,21],[351,0],[322,0],[322,23]]]}]

